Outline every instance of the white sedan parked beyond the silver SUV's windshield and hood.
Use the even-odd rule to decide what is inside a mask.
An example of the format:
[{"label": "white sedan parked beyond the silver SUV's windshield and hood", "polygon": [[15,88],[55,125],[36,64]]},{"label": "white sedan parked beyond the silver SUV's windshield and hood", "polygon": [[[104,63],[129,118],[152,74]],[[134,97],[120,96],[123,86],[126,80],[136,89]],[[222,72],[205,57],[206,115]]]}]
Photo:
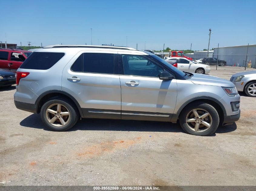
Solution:
[{"label": "white sedan parked beyond the silver SUV's windshield and hood", "polygon": [[165,61],[168,62],[171,60],[177,60],[178,63],[176,65],[173,64],[173,66],[177,67],[178,69],[180,69],[181,71],[184,71],[184,72],[208,74],[211,71],[210,66],[205,65],[205,64],[196,64],[186,58],[171,57],[169,59],[166,59]]}]

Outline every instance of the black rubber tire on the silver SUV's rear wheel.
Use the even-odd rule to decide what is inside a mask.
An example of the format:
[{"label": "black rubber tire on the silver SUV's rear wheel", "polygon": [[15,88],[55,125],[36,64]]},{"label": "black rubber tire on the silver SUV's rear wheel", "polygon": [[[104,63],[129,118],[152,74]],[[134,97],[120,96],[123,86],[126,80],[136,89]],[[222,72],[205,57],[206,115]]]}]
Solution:
[{"label": "black rubber tire on the silver SUV's rear wheel", "polygon": [[[58,119],[58,117],[59,118],[61,117],[61,116],[59,116],[61,114],[58,114],[58,116],[55,114],[52,114],[52,113],[46,114],[46,110],[48,109],[48,107],[50,107],[51,105],[54,105],[54,104],[61,104],[61,107],[60,107],[61,110],[67,111],[69,113],[69,116],[62,116],[62,119],[66,118],[66,122],[67,122],[66,124],[62,125],[60,122],[60,119]],[[53,107],[55,107],[55,106],[53,106]],[[55,125],[58,125],[58,123],[60,123],[59,125],[62,125],[62,126],[57,127],[55,125],[52,125],[48,121],[48,119],[54,118],[54,116],[55,117],[57,116],[56,120],[54,122],[54,123],[56,123]],[[68,99],[65,99],[63,97],[52,97],[43,104],[43,106],[41,108],[41,119],[42,119],[43,123],[45,124],[45,126],[47,126],[52,131],[67,131],[68,129],[71,129],[76,124],[76,122],[78,120],[77,107],[74,103],[72,103]],[[65,121],[65,119],[64,119],[64,121]]]}]

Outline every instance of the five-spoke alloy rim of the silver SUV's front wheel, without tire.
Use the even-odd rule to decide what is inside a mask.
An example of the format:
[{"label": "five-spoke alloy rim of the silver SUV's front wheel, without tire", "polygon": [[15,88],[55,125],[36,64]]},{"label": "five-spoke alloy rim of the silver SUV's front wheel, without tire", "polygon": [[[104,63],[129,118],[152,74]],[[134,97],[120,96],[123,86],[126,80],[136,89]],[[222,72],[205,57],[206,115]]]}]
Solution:
[{"label": "five-spoke alloy rim of the silver SUV's front wheel, without tire", "polygon": [[204,132],[211,127],[211,114],[204,109],[193,109],[186,116],[188,127],[195,132]]}]

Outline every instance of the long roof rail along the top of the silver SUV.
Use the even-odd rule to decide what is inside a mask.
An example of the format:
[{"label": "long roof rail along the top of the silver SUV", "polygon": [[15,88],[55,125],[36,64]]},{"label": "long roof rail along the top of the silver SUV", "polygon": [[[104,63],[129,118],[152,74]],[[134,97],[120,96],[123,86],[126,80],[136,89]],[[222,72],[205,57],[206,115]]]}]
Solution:
[{"label": "long roof rail along the top of the silver SUV", "polygon": [[105,49],[121,49],[121,50],[136,50],[126,46],[95,46],[95,45],[48,45],[43,48],[105,48]]}]

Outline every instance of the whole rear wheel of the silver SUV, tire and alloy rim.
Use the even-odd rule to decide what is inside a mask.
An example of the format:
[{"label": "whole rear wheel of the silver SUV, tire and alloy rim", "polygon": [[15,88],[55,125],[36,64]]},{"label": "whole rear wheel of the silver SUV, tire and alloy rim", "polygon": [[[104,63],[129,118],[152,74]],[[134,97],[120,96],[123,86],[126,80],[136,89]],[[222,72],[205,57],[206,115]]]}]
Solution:
[{"label": "whole rear wheel of the silver SUV, tire and alloy rim", "polygon": [[41,119],[53,131],[71,129],[78,120],[76,106],[62,97],[49,99],[41,108]]}]

